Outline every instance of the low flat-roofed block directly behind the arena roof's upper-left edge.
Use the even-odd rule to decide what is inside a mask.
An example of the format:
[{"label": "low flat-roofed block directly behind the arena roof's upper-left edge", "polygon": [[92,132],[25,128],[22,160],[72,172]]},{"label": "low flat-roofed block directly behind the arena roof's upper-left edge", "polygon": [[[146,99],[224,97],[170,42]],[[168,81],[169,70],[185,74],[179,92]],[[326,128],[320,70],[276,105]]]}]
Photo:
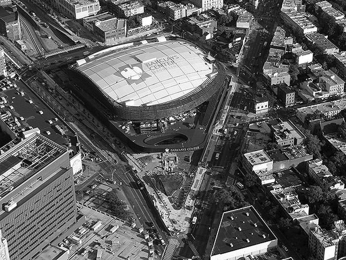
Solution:
[{"label": "low flat-roofed block directly behind the arena roof's upper-left edge", "polygon": [[105,44],[115,44],[126,37],[127,21],[118,19],[109,12],[83,19],[83,26]]}]

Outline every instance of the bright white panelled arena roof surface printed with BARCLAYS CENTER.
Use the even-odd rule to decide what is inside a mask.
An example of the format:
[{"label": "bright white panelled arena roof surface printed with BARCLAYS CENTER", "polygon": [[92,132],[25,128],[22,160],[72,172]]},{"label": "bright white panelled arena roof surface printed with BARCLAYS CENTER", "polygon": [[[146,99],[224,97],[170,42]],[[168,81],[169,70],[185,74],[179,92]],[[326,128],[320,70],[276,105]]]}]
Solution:
[{"label": "bright white panelled arena roof surface printed with BARCLAYS CENTER", "polygon": [[94,53],[75,69],[118,103],[162,104],[197,91],[216,72],[205,53],[185,41],[145,43]]}]

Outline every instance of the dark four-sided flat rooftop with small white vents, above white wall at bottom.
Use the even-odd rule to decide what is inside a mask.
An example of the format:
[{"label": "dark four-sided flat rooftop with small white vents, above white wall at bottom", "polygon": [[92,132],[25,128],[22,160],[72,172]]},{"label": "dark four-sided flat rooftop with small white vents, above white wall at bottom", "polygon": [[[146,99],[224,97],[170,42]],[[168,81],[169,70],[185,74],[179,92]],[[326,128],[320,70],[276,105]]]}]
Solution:
[{"label": "dark four-sided flat rooftop with small white vents, above white wall at bottom", "polygon": [[253,206],[222,214],[212,256],[276,240]]}]

